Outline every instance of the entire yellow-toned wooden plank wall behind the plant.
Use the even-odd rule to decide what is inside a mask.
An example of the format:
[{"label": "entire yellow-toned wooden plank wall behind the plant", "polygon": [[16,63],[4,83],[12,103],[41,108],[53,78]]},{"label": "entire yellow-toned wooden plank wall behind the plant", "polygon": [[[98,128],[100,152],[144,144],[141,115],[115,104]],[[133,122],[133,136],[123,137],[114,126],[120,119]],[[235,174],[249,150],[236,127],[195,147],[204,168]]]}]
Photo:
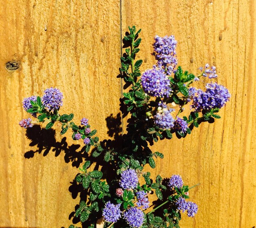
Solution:
[{"label": "entire yellow-toned wooden plank wall behind the plant", "polygon": [[[253,0],[2,0],[0,227],[72,224],[80,198],[70,182],[82,145],[58,130],[26,136],[18,126],[28,117],[22,100],[56,86],[63,113],[74,112],[75,122],[88,117],[99,137],[109,138],[106,118],[120,112],[121,35],[133,24],[142,29],[142,70],[154,64],[153,37],[173,34],[179,64],[193,72],[215,64],[232,96],[214,124],[153,147],[165,156],[153,176],[176,173],[190,186],[200,183],[190,194],[198,215],[184,215],[181,227],[256,226],[255,10]],[[20,68],[6,69],[10,61]]]}]

